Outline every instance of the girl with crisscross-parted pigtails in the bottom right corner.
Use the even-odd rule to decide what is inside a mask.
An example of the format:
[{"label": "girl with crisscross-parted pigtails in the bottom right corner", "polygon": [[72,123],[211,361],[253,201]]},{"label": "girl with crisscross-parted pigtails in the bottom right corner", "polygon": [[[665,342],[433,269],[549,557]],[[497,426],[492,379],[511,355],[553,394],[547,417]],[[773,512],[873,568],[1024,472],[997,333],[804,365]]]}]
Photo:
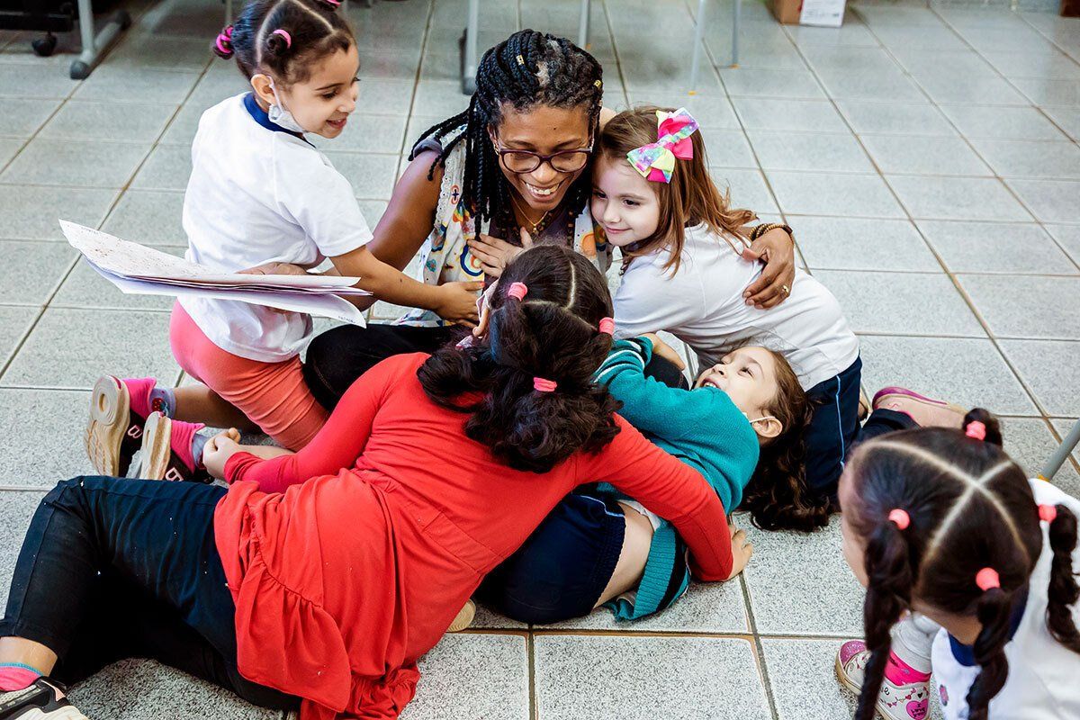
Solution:
[{"label": "girl with crisscross-parted pigtails in the bottom right corner", "polygon": [[[855,720],[1080,718],[1080,501],[1028,480],[985,410],[964,430],[893,433],[840,479],[843,556],[866,586],[866,641],[837,675]],[[931,667],[933,685],[931,685]]]}]

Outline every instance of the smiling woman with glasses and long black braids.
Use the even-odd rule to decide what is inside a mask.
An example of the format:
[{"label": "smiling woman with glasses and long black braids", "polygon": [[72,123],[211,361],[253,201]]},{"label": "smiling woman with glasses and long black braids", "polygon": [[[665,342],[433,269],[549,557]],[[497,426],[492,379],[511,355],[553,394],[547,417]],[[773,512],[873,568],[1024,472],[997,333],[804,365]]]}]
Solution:
[{"label": "smiling woman with glasses and long black braids", "polygon": [[[413,146],[368,248],[399,269],[419,252],[431,285],[498,276],[523,235],[572,247],[605,271],[611,248],[589,212],[603,94],[599,63],[569,40],[522,30],[491,47],[477,66],[469,109]],[[772,230],[751,249],[769,260],[750,288],[752,300],[771,307],[795,274],[791,236]],[[393,325],[334,328],[308,348],[305,379],[333,408],[382,358],[433,352],[457,335],[430,312]]]}]

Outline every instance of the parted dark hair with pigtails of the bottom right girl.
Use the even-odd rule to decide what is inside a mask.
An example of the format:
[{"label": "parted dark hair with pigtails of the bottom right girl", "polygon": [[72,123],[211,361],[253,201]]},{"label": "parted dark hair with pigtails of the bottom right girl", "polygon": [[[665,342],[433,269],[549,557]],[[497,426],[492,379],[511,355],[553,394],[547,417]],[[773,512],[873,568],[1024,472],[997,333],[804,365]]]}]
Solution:
[{"label": "parted dark hair with pigtails of the bottom right girl", "polygon": [[[982,625],[973,654],[981,671],[968,692],[971,720],[986,720],[990,701],[1009,675],[1004,647],[1014,610],[1042,552],[1041,508],[1024,471],[1001,450],[1001,433],[976,408],[964,427],[981,423],[985,440],[928,427],[864,443],[848,463],[854,501],[845,521],[865,542],[867,576],[863,619],[866,665],[856,720],[870,720],[881,690],[890,629],[913,599]],[[891,519],[900,512],[902,522]],[[1047,623],[1080,654],[1069,606],[1080,597],[1071,553],[1077,520],[1057,505],[1050,524],[1053,549]],[[989,574],[993,582],[981,578]]]}]

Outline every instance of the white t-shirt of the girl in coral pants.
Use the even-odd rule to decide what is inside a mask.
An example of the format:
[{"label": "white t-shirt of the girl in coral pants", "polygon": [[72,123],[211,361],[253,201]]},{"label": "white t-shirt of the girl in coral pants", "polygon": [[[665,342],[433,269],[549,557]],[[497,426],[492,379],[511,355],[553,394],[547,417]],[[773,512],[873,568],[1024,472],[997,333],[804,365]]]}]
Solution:
[{"label": "white t-shirt of the girl in coral pants", "polygon": [[[372,240],[352,186],[326,155],[237,95],[206,110],[184,196],[187,258],[234,272],[265,262],[315,266]],[[260,124],[262,123],[262,124]],[[221,350],[266,363],[293,357],[311,317],[235,300],[180,304]]]}]

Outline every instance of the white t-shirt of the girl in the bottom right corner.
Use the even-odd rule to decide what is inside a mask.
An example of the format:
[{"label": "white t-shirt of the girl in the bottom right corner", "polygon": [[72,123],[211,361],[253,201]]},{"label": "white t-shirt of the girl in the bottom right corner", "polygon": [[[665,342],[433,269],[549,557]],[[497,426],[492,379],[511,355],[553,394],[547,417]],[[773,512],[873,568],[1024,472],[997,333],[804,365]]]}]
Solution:
[{"label": "white t-shirt of the girl in the bottom right corner", "polygon": [[[1031,480],[1036,502],[1067,505],[1080,515],[1080,501],[1050,483]],[[1057,642],[1047,628],[1047,587],[1053,551],[1047,526],[1042,526],[1042,554],[1031,573],[1027,606],[1016,634],[1005,644],[1009,679],[990,701],[990,720],[1067,720],[1080,718],[1080,655]],[[1072,552],[1072,567],[1080,569],[1080,551]],[[1080,622],[1080,608],[1072,608]],[[934,682],[946,720],[968,718],[968,691],[978,676],[978,666],[969,667],[953,654],[948,634],[934,638],[932,661]]]}]

